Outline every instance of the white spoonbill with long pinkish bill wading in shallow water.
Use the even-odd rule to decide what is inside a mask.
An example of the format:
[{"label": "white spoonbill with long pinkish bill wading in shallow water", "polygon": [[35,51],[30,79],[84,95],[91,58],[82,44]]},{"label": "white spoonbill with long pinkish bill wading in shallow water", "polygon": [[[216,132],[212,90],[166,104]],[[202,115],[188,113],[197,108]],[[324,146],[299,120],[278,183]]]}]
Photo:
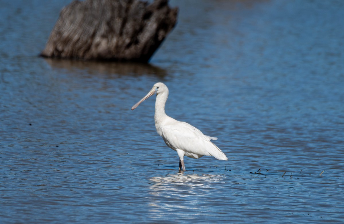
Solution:
[{"label": "white spoonbill with long pinkish bill wading in shallow water", "polygon": [[169,89],[164,83],[155,83],[151,91],[133,105],[131,110],[137,108],[140,103],[153,96],[154,93],[157,94],[154,114],[155,128],[164,139],[166,145],[178,153],[180,170],[185,170],[184,155],[194,159],[201,158],[202,156],[214,156],[219,160],[228,160],[221,149],[210,141],[217,138],[204,135],[194,126],[186,122],[177,121],[166,115],[165,103],[169,96]]}]

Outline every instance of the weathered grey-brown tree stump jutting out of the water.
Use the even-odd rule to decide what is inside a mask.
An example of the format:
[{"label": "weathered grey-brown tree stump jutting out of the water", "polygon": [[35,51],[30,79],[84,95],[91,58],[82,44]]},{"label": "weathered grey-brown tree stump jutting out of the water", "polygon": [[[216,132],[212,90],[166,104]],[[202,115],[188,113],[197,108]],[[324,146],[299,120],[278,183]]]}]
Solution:
[{"label": "weathered grey-brown tree stump jutting out of the water", "polygon": [[62,9],[41,56],[148,62],[177,14],[168,0],[73,1]]}]

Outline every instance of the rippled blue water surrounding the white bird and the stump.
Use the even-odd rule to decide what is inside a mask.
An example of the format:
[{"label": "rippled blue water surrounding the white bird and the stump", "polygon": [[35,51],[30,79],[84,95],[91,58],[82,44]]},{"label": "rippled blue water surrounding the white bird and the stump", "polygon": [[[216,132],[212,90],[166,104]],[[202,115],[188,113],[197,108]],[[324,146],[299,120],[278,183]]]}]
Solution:
[{"label": "rippled blue water surrounding the white bird and the stump", "polygon": [[[175,0],[150,65],[39,58],[70,1],[0,2],[1,223],[343,222],[342,1]],[[178,172],[158,81],[228,161]]]}]

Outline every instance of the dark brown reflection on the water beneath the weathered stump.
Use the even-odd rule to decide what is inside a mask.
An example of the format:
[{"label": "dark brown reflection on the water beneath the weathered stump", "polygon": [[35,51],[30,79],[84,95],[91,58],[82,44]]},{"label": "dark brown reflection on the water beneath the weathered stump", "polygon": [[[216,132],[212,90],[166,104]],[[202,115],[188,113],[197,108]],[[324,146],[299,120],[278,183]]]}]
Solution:
[{"label": "dark brown reflection on the water beneath the weathered stump", "polygon": [[77,70],[87,70],[88,74],[117,74],[120,76],[141,76],[152,75],[157,77],[165,77],[167,71],[157,66],[143,63],[130,62],[110,62],[110,61],[84,61],[84,60],[66,60],[44,58],[44,60],[52,67],[65,69],[69,72]]}]

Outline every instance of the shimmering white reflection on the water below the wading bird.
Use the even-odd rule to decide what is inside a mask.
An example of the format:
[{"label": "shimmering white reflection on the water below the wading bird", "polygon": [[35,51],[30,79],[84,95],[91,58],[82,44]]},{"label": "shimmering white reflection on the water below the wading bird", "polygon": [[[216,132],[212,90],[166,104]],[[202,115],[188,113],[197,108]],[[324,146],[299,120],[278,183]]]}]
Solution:
[{"label": "shimmering white reflection on the water below the wading bird", "polygon": [[197,215],[209,210],[209,203],[214,204],[214,195],[225,190],[225,178],[225,175],[183,172],[152,177],[149,211],[154,217],[166,216],[166,213],[172,212],[190,219],[191,214]]}]

